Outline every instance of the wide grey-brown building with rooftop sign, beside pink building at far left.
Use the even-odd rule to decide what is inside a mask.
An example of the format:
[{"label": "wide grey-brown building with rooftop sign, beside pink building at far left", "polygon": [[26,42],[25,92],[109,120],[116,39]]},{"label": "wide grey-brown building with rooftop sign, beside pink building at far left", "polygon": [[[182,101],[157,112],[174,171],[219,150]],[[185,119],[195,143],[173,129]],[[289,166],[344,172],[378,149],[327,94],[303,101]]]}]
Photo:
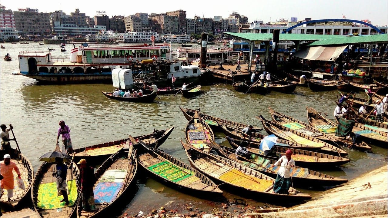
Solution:
[{"label": "wide grey-brown building with rooftop sign, beside pink building at far left", "polygon": [[15,27],[23,34],[50,34],[50,14],[38,12],[37,9],[26,8],[14,11]]}]

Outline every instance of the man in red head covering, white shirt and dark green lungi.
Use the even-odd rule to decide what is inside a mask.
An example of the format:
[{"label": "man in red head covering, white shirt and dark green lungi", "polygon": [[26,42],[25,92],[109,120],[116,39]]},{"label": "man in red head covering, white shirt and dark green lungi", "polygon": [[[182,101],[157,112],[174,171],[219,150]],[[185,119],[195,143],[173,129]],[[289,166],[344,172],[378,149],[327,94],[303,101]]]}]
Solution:
[{"label": "man in red head covering, white shirt and dark green lungi", "polygon": [[288,149],[286,156],[282,156],[274,164],[274,166],[280,166],[277,171],[276,180],[274,183],[274,192],[277,194],[288,194],[288,189],[291,185],[291,170],[295,166],[295,161],[291,158],[293,152]]}]

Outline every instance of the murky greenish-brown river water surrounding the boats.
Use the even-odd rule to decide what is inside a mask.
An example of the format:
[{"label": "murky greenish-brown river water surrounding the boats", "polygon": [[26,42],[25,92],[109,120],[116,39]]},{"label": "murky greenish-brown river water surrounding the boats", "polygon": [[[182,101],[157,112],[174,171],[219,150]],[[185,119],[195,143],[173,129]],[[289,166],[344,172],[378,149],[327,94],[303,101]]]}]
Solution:
[{"label": "murky greenish-brown river water surrounding the boats", "polygon": [[[36,85],[33,79],[12,75],[19,69],[19,52],[47,51],[47,47],[56,48],[52,51],[53,57],[68,57],[69,52],[61,53],[59,45],[39,45],[33,42],[3,45],[5,48],[1,49],[1,55],[4,57],[8,52],[13,60],[1,59],[1,124],[8,126],[11,123],[14,126],[20,149],[33,164],[35,172],[40,165],[38,158],[55,147],[60,120],[65,120],[69,125],[74,148],[118,140],[128,135],[148,134],[154,128],[161,130],[175,126],[175,130],[160,149],[188,164],[179,141],[185,140],[187,120],[178,106],[201,108],[202,112],[213,116],[256,126],[261,126],[261,122],[255,116],[262,114],[270,119],[268,107],[307,122],[306,106],[311,106],[317,111],[327,112],[328,117],[334,119],[337,91],[312,92],[306,87],[297,87],[292,94],[272,92],[263,96],[244,95],[233,90],[231,85],[215,84],[203,86],[204,93],[192,99],[185,99],[181,95],[162,95],[154,103],[131,103],[107,99],[102,95],[101,91],[112,91],[112,85]],[[66,47],[70,50],[72,45]],[[227,144],[223,133],[215,132],[215,136],[217,143]],[[14,142],[11,145],[16,147]],[[347,150],[348,158],[352,160],[350,163],[322,172],[350,180],[385,165],[387,150],[371,146],[371,153]],[[174,208],[187,203],[200,209],[214,207],[212,202],[181,194],[145,176],[139,176],[136,192],[127,197],[124,202],[126,206],[119,208],[118,214],[137,214],[139,211],[149,213],[160,206]],[[300,190],[312,194],[320,192]],[[225,197],[262,205],[227,191]]]}]

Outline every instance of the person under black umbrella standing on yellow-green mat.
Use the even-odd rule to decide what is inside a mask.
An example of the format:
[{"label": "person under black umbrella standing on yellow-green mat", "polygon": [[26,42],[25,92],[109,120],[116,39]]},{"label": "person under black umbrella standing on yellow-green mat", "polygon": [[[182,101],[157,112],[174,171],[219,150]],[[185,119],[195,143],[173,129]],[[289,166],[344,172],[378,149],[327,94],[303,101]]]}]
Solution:
[{"label": "person under black umbrella standing on yellow-green mat", "polygon": [[65,202],[65,205],[69,205],[68,189],[66,184],[66,174],[68,167],[63,163],[63,158],[55,157],[55,163],[57,164],[57,171],[52,176],[57,177],[57,190],[58,195],[63,195],[63,199],[60,202]]}]

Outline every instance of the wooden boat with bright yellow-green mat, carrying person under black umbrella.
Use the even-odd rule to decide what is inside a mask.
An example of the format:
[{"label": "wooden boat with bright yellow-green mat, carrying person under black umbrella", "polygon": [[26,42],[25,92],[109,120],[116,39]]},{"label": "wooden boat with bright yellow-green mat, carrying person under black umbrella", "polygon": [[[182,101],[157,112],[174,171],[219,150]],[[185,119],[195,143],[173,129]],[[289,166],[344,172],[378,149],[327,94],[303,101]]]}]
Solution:
[{"label": "wooden boat with bright yellow-green mat, carrying person under black umbrella", "polygon": [[[55,149],[59,151],[59,146]],[[67,163],[67,189],[70,204],[59,202],[57,197],[56,178],[52,176],[56,171],[55,163],[43,162],[38,168],[32,182],[31,196],[34,209],[43,218],[70,218],[76,211],[76,202],[80,196],[81,178],[78,166],[72,161]]]}]

